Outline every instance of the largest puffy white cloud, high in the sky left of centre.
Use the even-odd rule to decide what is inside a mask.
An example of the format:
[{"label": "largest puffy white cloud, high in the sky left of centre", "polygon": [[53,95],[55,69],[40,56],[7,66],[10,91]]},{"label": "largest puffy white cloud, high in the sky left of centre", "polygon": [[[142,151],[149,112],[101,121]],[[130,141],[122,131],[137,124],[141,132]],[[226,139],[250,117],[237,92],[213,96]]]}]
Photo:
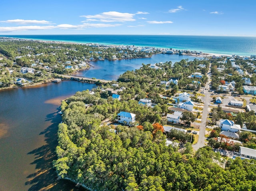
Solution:
[{"label": "largest puffy white cloud, high in the sky left of centre", "polygon": [[86,21],[100,21],[100,22],[127,22],[127,21],[135,21],[133,18],[135,14],[131,13],[120,13],[116,11],[103,12],[97,15],[83,15],[80,17],[87,18]]}]

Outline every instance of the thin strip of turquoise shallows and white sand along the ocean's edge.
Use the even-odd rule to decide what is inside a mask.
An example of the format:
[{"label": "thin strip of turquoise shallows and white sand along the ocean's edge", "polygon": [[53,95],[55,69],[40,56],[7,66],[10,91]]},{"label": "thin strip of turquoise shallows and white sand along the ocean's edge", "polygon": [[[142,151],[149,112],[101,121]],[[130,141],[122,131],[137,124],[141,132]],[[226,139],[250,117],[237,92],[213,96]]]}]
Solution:
[{"label": "thin strip of turquoise shallows and white sand along the ocean's edge", "polygon": [[[2,37],[2,36],[0,36]],[[46,40],[46,39],[30,39],[30,38],[20,38],[20,37],[5,37],[5,38],[11,38],[11,39],[21,39],[21,40],[28,40],[28,41],[38,41],[38,42],[44,42],[44,43],[62,43],[62,44],[80,44],[80,45],[90,45],[90,44],[96,44],[96,45],[107,45],[107,46],[135,46],[135,47],[151,47],[151,48],[161,48],[161,49],[168,49],[166,47],[155,47],[155,46],[144,46],[144,45],[127,45],[127,44],[113,44],[113,43],[99,43],[99,42],[75,42],[75,41],[61,41],[61,40]],[[182,51],[182,50],[189,50],[186,48],[173,48],[176,49],[177,51]],[[194,51],[198,51],[198,50],[194,50]],[[200,51],[198,51],[200,52]],[[183,54],[183,55],[189,55],[189,56],[195,56],[195,57],[206,57],[206,56],[226,56],[226,57],[230,57],[232,56],[232,54],[228,54],[228,53],[213,53],[213,52],[204,52],[202,51],[202,54]],[[239,55],[241,57],[249,57],[248,55],[241,55],[241,54],[235,54],[235,55]]]}]

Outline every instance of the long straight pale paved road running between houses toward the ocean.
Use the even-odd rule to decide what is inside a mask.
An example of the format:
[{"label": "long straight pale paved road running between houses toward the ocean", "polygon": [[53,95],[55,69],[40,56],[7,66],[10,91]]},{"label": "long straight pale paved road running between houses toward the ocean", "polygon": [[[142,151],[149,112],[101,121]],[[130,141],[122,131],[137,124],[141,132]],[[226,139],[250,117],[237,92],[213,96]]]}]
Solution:
[{"label": "long straight pale paved road running between houses toward the ocean", "polygon": [[[210,72],[210,69],[208,73]],[[205,88],[207,90],[204,91],[204,109],[202,112],[202,120],[200,124],[200,131],[199,131],[199,138],[197,144],[193,145],[193,148],[195,150],[198,150],[201,147],[204,147],[206,145],[205,143],[205,130],[206,130],[206,121],[208,116],[208,107],[209,107],[209,99],[210,99],[210,93],[208,92],[209,89],[209,83],[210,83],[210,75],[208,75],[208,81],[206,82]]]}]

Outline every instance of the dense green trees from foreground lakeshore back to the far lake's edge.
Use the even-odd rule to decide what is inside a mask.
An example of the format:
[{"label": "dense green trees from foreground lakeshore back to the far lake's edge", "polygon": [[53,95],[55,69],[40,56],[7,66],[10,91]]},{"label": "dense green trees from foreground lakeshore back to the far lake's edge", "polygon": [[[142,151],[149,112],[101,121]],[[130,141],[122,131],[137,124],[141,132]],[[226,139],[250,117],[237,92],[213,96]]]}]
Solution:
[{"label": "dense green trees from foreground lakeshore back to the far lake's edge", "polygon": [[[127,71],[119,78],[120,87],[126,87],[121,101],[100,88],[93,89],[94,95],[82,91],[63,101],[58,159],[53,162],[59,177],[96,191],[256,191],[255,160],[222,158],[208,146],[194,152],[176,131],[167,136],[183,142],[184,148],[166,146],[160,125],[166,100],[158,93],[175,94],[175,87],[166,90],[158,84],[178,74],[180,81],[191,80],[186,72],[196,71],[201,62],[208,63],[184,60],[175,63],[176,69],[164,63],[158,65],[160,70],[143,65]],[[151,98],[157,107],[139,105],[138,96]],[[88,103],[93,105],[86,108]],[[135,126],[116,124],[120,111],[136,114]]]}]

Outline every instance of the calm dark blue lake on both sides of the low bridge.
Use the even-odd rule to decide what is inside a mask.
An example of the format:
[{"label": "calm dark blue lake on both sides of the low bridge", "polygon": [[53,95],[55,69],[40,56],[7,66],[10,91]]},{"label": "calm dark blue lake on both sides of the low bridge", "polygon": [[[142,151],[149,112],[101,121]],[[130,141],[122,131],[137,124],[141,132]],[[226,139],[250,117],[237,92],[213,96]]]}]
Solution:
[{"label": "calm dark blue lake on both sides of the low bridge", "polygon": [[[96,61],[85,77],[116,79],[126,70],[138,69],[142,63],[158,63],[195,57],[154,55],[146,59]],[[56,159],[61,100],[77,91],[92,89],[94,84],[77,81],[47,83],[37,87],[0,91],[0,191],[78,191],[73,183],[57,181],[52,169]]]}]

